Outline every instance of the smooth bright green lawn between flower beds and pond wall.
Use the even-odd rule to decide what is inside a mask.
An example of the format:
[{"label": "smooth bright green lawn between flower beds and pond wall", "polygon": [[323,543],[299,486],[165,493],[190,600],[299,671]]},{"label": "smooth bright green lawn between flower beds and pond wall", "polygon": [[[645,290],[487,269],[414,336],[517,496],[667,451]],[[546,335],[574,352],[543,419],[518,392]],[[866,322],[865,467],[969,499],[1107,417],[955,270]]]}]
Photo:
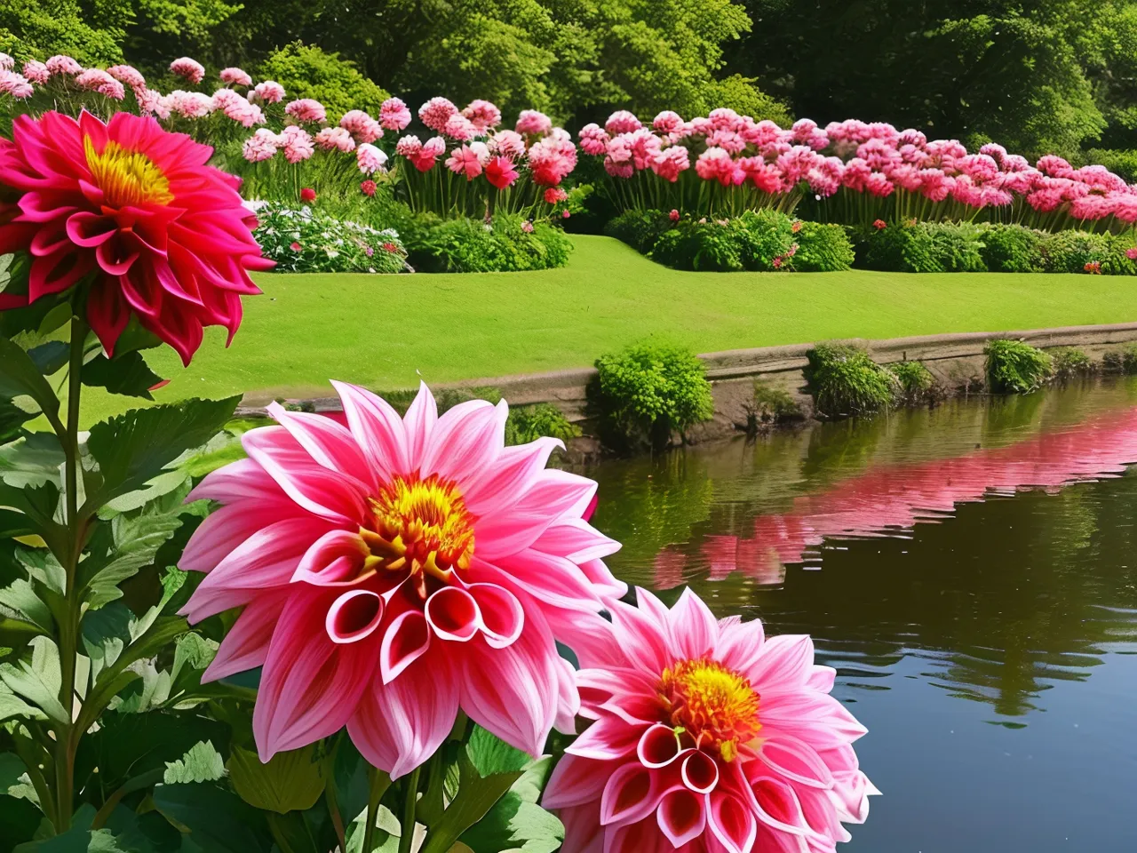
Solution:
[{"label": "smooth bright green lawn between flower beds and pond wall", "polygon": [[[832,338],[896,338],[1137,320],[1122,276],[686,273],[604,237],[575,237],[568,266],[539,273],[256,276],[224,348],[209,330],[189,370],[151,365],[159,400],[246,392],[329,396],[329,378],[375,389],[590,365],[648,334],[696,351]],[[91,394],[84,420],[121,407]]]}]

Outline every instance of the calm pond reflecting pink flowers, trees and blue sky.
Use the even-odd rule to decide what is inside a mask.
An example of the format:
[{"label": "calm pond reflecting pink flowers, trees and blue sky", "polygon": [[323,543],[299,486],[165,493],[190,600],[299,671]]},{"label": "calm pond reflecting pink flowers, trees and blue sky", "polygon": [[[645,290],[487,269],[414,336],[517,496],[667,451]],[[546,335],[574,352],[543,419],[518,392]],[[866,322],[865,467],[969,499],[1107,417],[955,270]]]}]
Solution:
[{"label": "calm pond reflecting pink flowers, trees and blue sky", "polygon": [[601,463],[609,558],[808,632],[883,792],[848,853],[1137,850],[1137,381]]}]

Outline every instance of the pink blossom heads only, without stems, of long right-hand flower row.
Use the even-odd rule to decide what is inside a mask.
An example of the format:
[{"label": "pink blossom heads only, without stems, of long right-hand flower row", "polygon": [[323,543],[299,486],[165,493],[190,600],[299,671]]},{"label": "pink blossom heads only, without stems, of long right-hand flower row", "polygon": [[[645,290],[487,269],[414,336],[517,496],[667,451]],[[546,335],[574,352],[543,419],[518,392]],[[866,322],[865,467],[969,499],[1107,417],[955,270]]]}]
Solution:
[{"label": "pink blossom heads only, without stems, of long right-hand flower row", "polygon": [[821,200],[843,190],[877,198],[903,191],[973,210],[1022,202],[1039,214],[1065,206],[1080,221],[1137,221],[1137,185],[1104,166],[1076,168],[1053,155],[1031,165],[995,143],[969,152],[956,140],[928,140],[886,123],[850,119],[821,129],[804,118],[786,130],[720,108],[689,122],[665,110],[648,126],[620,110],[603,127],[582,127],[580,143],[603,157],[615,179],[650,172],[674,183],[694,166],[704,181],[769,194],[807,188]]}]

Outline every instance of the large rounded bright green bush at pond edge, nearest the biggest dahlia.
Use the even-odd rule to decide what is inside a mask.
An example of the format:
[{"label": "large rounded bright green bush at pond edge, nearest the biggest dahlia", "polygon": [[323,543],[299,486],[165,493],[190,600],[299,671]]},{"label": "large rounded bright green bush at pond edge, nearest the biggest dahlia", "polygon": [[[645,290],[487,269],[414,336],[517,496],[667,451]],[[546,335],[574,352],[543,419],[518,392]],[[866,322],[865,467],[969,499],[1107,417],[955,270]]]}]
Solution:
[{"label": "large rounded bright green bush at pond edge, nearest the biggest dahlia", "polygon": [[655,340],[600,356],[594,401],[604,438],[617,449],[662,448],[672,432],[714,415],[706,367],[690,349]]}]

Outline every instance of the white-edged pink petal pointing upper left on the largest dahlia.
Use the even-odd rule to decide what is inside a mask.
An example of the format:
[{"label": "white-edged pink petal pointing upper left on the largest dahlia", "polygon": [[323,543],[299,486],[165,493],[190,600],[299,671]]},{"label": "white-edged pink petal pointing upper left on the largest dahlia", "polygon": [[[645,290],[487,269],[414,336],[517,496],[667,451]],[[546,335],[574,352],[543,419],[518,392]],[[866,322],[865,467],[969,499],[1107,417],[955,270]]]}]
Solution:
[{"label": "white-edged pink petal pointing upper left on the largest dahlia", "polygon": [[354,527],[366,517],[366,491],[359,481],[316,464],[283,426],[249,430],[241,445],[249,458],[308,512]]}]

